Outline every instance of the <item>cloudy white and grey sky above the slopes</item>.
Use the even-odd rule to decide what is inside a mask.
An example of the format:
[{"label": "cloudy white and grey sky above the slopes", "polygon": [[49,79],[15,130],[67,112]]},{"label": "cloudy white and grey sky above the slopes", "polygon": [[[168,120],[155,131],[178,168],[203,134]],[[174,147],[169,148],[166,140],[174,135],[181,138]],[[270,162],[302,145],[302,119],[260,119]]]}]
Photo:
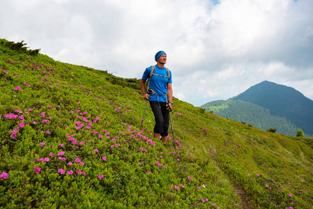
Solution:
[{"label": "cloudy white and grey sky above the slopes", "polygon": [[313,100],[312,0],[1,0],[0,38],[141,78],[167,52],[174,96],[199,107],[264,80]]}]

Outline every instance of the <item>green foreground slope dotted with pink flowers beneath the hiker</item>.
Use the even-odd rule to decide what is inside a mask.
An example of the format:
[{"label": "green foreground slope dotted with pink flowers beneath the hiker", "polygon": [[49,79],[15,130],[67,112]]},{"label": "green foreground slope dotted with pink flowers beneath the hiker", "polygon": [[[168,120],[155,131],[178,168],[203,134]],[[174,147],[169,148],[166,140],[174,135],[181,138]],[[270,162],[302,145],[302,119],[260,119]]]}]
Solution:
[{"label": "green foreground slope dotted with pink flowers beneath the hiker", "polygon": [[[174,98],[153,139],[139,80],[0,44],[0,208],[312,208],[311,138]],[[175,90],[174,90],[175,91]]]}]

